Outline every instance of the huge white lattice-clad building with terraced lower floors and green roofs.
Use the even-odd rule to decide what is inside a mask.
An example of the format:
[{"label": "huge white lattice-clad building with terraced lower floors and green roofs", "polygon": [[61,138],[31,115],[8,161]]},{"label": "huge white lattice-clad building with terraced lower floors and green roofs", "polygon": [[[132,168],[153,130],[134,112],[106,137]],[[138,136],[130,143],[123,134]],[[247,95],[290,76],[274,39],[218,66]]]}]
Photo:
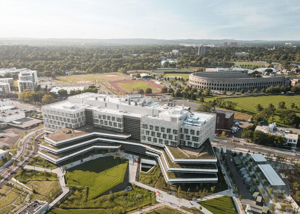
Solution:
[{"label": "huge white lattice-clad building with terraced lower floors and green roofs", "polygon": [[122,149],[157,159],[169,183],[218,180],[210,143],[216,114],[153,102],[140,94],[89,92],[42,110],[48,135],[38,154],[54,164],[95,149]]}]

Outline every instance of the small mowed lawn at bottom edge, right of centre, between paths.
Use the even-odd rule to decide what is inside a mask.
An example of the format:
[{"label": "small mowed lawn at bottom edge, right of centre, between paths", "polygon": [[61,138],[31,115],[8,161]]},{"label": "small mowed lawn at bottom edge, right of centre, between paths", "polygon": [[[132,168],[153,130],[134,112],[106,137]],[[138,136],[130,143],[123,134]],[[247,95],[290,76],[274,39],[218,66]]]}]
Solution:
[{"label": "small mowed lawn at bottom edge, right of centre, between paths", "polygon": [[213,214],[236,214],[237,210],[230,196],[221,196],[199,203]]}]

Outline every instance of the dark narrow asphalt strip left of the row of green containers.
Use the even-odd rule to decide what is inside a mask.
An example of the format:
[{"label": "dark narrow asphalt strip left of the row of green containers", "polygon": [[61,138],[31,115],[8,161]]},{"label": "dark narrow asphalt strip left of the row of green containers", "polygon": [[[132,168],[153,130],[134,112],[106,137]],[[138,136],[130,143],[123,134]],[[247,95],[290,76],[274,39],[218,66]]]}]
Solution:
[{"label": "dark narrow asphalt strip left of the row of green containers", "polygon": [[227,162],[229,165],[229,170],[232,173],[232,181],[234,181],[235,186],[238,187],[239,194],[242,195],[242,204],[249,204],[251,210],[254,214],[258,214],[262,212],[262,206],[256,205],[256,201],[252,200],[252,195],[249,194],[249,189],[246,188],[246,184],[243,183],[238,170],[236,170],[234,166],[234,162],[230,160],[232,156],[231,151],[227,150]]}]

